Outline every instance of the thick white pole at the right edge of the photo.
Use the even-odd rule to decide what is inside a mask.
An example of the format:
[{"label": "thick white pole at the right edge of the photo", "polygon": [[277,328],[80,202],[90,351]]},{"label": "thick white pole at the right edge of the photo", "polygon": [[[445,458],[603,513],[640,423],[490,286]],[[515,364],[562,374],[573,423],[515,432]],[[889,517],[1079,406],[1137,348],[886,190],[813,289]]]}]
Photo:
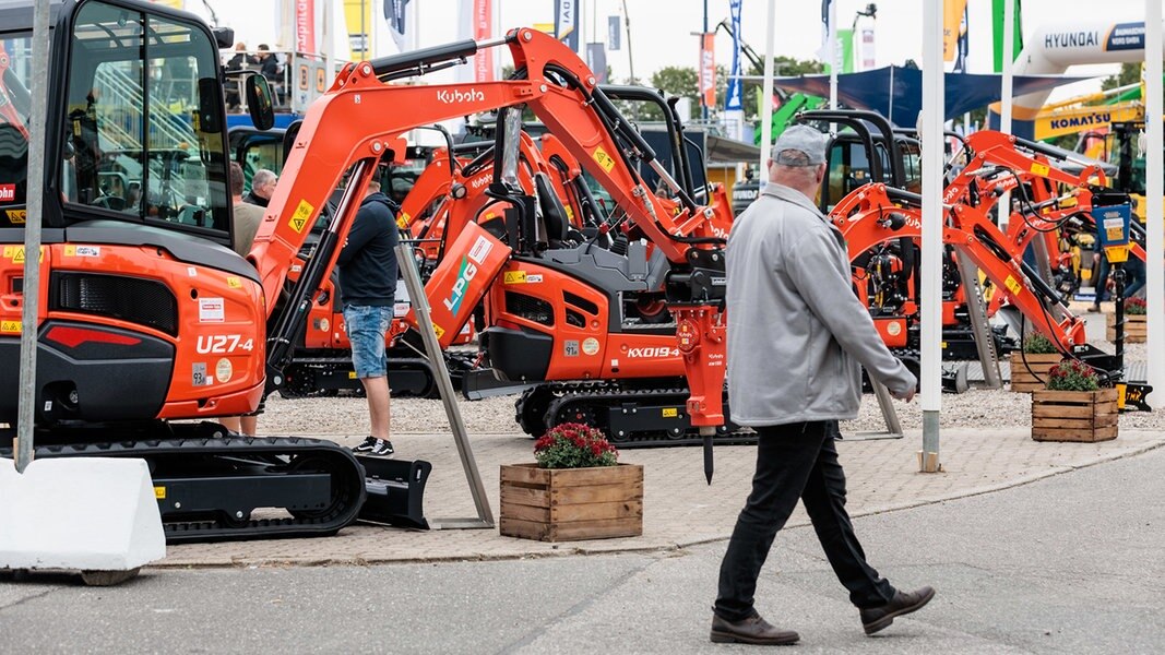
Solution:
[{"label": "thick white pole at the right edge of the photo", "polygon": [[[1145,132],[1149,152],[1145,153],[1145,298],[1149,301],[1149,379],[1148,382],[1165,394],[1165,219],[1162,218],[1165,182],[1165,156],[1162,153],[1162,2],[1145,0]],[[1159,402],[1159,399],[1157,400]]]}]

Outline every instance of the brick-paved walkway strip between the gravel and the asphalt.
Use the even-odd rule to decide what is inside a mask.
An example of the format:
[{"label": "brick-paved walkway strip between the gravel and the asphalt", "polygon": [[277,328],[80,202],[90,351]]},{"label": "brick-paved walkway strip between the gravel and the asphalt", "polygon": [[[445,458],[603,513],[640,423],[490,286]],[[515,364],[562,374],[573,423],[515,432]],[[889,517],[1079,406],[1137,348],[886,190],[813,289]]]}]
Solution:
[{"label": "brick-paved walkway strip between the gravel and the asphalt", "polygon": [[[356,437],[336,437],[354,445]],[[471,437],[496,521],[501,464],[532,462],[532,442],[516,435]],[[450,435],[393,435],[400,457],[433,465],[425,491],[430,521],[476,516],[473,498]],[[1128,457],[1165,445],[1165,434],[1122,430],[1097,444],[1037,443],[1029,428],[945,429],[941,473],[919,473],[920,434],[901,439],[845,441],[839,444],[849,476],[850,514],[868,515],[996,491]],[[562,554],[675,549],[727,538],[749,491],[755,448],[722,446],[715,478],[704,481],[701,450],[627,450],[621,460],[644,466],[643,535],[599,541],[543,543],[503,537],[497,528],[408,530],[354,526],[329,538],[186,544],[169,548],[161,566],[245,566],[369,564],[449,559],[539,557]],[[803,509],[790,526],[807,523]]]}]

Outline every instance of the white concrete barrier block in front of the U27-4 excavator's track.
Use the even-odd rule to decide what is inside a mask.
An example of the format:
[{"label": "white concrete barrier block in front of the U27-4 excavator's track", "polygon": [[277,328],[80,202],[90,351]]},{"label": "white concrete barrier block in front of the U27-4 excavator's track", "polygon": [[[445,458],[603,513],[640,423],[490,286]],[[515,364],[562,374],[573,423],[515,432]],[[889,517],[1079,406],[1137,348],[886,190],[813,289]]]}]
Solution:
[{"label": "white concrete barrier block in front of the U27-4 excavator's track", "polygon": [[0,458],[0,569],[128,571],[165,557],[143,459]]}]

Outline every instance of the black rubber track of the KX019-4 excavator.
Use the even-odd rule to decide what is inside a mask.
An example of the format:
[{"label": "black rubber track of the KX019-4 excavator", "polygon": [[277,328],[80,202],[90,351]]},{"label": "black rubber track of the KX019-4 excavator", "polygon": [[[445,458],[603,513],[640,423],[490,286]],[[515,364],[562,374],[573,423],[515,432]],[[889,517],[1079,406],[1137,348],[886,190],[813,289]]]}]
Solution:
[{"label": "black rubber track of the KX019-4 excavator", "polygon": [[[595,417],[599,429],[606,432],[616,448],[668,448],[676,445],[704,445],[704,437],[699,429],[689,428],[683,435],[673,436],[664,431],[634,432],[624,437],[612,435],[609,425],[606,425],[607,409],[613,406],[643,406],[643,404],[679,404],[687,402],[690,392],[685,387],[659,387],[643,389],[627,389],[617,382],[610,381],[587,381],[587,382],[555,382],[551,386],[557,396],[546,408],[545,423],[557,425],[566,422],[560,416],[570,410],[582,406]],[[523,396],[525,397],[525,396]],[[521,402],[521,401],[520,401]],[[725,409],[728,408],[727,394],[725,394]],[[518,411],[521,414],[521,410]],[[600,420],[600,417],[602,420]],[[751,430],[736,428],[730,432],[719,432],[712,442],[719,445],[755,444],[756,434]]]}]

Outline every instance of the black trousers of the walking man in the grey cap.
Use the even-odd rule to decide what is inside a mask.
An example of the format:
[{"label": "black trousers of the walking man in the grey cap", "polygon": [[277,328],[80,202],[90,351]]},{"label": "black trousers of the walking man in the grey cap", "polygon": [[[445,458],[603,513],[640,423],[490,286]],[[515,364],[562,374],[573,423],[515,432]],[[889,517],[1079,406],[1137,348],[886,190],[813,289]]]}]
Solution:
[{"label": "black trousers of the walking man in the grey cap", "polygon": [[756,428],[753,492],[720,564],[715,613],[721,618],[739,621],[755,612],[756,579],[798,498],[805,502],[829,565],[849,590],[850,603],[869,608],[894,598],[890,583],[866,562],[846,514],[846,473],[838,462],[836,430],[836,421]]}]

